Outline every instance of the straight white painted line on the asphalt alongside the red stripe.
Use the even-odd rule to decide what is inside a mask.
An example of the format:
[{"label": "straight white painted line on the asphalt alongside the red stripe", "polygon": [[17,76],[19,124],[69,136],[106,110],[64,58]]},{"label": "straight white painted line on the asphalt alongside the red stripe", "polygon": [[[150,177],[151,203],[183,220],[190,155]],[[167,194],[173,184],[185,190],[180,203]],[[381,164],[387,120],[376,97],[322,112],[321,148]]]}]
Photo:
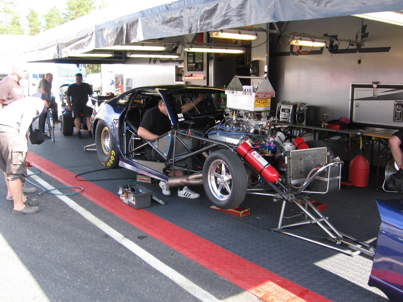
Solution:
[{"label": "straight white painted line on the asphalt alongside the red stripe", "polygon": [[[39,184],[41,184],[44,188],[47,190],[54,189],[50,184],[48,184],[46,181],[44,181],[42,178],[39,178],[37,175],[32,175],[31,176],[34,180],[36,180]],[[54,193],[60,193],[58,190],[53,190],[52,192]],[[87,210],[85,210],[83,207],[75,203],[73,200],[71,200],[69,197],[64,196],[64,195],[54,195],[60,200],[64,201],[69,207],[77,211],[80,215],[85,217],[88,221],[96,225],[100,230],[108,234],[110,237],[112,237],[114,240],[125,246],[127,249],[131,250],[134,254],[139,256],[141,259],[143,259],[146,263],[154,267],[157,271],[160,271],[162,274],[164,274],[166,277],[177,283],[181,288],[195,296],[197,299],[203,301],[203,302],[218,302],[216,297],[211,295],[210,293],[206,292],[202,288],[200,288],[198,285],[195,283],[191,282],[189,279],[185,278],[183,275],[179,274],[177,271],[174,269],[171,269],[158,259],[156,259],[152,254],[149,252],[143,250],[140,246],[135,244],[133,241],[125,238],[122,234],[116,232],[114,229],[112,229],[109,225],[89,213]]]}]

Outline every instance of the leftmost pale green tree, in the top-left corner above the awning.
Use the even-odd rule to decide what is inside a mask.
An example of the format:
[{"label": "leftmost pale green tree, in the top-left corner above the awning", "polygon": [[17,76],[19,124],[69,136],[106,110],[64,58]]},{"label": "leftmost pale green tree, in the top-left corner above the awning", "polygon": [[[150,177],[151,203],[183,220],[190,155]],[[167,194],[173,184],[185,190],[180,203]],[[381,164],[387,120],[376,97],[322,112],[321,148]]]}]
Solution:
[{"label": "leftmost pale green tree, in the top-left corner above the awning", "polygon": [[23,35],[20,17],[15,12],[14,1],[0,0],[0,34]]}]

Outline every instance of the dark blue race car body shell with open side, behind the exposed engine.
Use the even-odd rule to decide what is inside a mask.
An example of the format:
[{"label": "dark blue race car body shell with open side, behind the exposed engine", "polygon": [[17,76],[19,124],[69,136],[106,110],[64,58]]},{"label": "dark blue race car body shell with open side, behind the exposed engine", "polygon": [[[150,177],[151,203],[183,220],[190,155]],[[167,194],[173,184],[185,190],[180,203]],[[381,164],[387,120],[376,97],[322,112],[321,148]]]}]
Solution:
[{"label": "dark blue race car body shell with open side, behind the exposed engine", "polygon": [[[206,130],[224,117],[224,108],[220,104],[224,92],[224,89],[206,86],[159,85],[132,89],[107,101],[96,102],[91,128],[100,161],[106,168],[120,165],[164,181],[168,179],[164,173],[166,166],[175,165],[189,172],[200,171],[203,151],[197,153],[197,150],[203,147]],[[206,99],[186,114],[181,114],[179,107],[200,94],[207,95]],[[145,111],[158,105],[160,99],[164,100],[172,128],[185,131],[190,137],[182,136],[178,144],[177,139],[172,139],[174,135],[164,134],[156,143],[166,161],[147,161],[145,142],[137,135],[137,130]],[[180,157],[192,152],[197,154],[181,160]]]}]

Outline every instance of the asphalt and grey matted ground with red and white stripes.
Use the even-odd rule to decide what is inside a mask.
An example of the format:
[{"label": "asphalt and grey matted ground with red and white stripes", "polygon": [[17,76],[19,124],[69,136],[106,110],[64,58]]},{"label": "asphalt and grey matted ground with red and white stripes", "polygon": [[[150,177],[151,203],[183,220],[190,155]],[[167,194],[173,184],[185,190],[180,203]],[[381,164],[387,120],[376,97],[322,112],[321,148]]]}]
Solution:
[{"label": "asphalt and grey matted ground with red and white stripes", "polygon": [[[136,184],[136,175],[99,170],[96,151],[83,151],[94,141],[83,134],[56,132],[54,143],[30,145],[42,173],[28,177],[42,188],[83,192],[28,193],[39,199],[34,215],[13,216],[12,203],[0,203],[1,301],[387,301],[366,284],[370,257],[270,231],[281,207],[271,199],[247,195],[241,206],[250,215],[237,217],[211,209],[202,186],[192,188],[201,197],[190,200],[141,182],[167,204],[131,208],[117,191]],[[89,181],[74,178],[83,172]],[[397,193],[368,187],[314,199],[326,203],[322,213],[338,230],[372,241],[380,225],[375,199],[393,198]],[[299,214],[287,207],[290,220]],[[324,236],[315,225],[290,231]]]}]

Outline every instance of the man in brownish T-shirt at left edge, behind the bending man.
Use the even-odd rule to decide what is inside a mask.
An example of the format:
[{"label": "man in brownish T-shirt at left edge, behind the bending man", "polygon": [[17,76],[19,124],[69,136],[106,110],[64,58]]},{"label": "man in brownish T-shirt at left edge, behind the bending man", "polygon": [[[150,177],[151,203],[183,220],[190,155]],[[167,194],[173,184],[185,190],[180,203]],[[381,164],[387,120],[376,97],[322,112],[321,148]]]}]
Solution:
[{"label": "man in brownish T-shirt at left edge, behind the bending man", "polygon": [[[22,99],[24,97],[24,90],[20,80],[25,79],[27,77],[27,69],[28,64],[27,62],[23,61],[15,61],[11,64],[12,71],[10,75],[5,77],[0,81],[0,110],[2,108],[6,108],[6,106],[13,101],[18,99]],[[4,179],[6,180],[7,185],[7,200],[12,200],[12,193],[10,190],[10,186],[7,180],[7,174],[4,173]],[[23,192],[24,193],[32,193],[35,192],[35,187],[25,186],[23,184]]]}]

